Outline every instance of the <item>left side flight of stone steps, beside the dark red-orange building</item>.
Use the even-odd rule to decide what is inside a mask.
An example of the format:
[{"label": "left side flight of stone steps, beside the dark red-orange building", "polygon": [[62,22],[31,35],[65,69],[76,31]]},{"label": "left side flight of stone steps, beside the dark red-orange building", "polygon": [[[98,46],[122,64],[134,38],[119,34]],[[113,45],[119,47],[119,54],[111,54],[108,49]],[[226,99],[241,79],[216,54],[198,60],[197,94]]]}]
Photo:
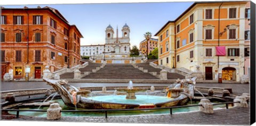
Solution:
[{"label": "left side flight of stone steps, beside the dark red-orange building", "polygon": [[[92,63],[89,60],[83,60],[88,62],[88,65],[85,68],[79,69],[81,71],[81,77],[85,77],[86,75],[90,74],[93,69],[100,67],[101,63]],[[60,75],[60,79],[74,79],[74,72],[67,72]]]}]

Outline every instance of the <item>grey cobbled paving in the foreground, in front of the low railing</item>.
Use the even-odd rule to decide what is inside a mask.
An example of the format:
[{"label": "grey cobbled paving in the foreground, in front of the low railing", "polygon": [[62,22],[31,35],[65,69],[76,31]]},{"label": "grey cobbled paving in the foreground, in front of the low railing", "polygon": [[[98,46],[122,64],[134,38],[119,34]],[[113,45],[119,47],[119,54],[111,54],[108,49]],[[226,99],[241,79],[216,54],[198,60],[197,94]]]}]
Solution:
[{"label": "grey cobbled paving in the foreground, in front of the low railing", "polygon": [[[6,120],[3,117],[3,120]],[[47,121],[46,117],[20,116],[12,121]],[[214,110],[213,114],[189,112],[161,115],[133,115],[133,116],[78,116],[61,117],[54,122],[102,122],[102,123],[151,123],[151,124],[221,124],[221,125],[250,125],[250,108],[235,107],[229,110]]]}]

